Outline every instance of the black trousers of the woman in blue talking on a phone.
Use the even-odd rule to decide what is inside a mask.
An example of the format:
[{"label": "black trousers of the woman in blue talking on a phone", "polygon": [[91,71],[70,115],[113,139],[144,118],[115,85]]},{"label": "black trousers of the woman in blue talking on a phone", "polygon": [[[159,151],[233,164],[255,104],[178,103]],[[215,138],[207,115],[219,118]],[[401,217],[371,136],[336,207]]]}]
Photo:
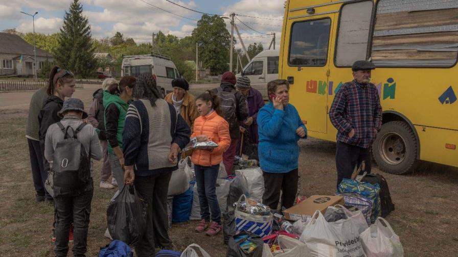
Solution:
[{"label": "black trousers of the woman in blue talking on a phone", "polygon": [[286,173],[262,172],[264,177],[264,195],[262,203],[272,210],[278,210],[280,191],[282,191],[282,207],[290,208],[294,205],[299,181],[299,171],[293,169]]}]

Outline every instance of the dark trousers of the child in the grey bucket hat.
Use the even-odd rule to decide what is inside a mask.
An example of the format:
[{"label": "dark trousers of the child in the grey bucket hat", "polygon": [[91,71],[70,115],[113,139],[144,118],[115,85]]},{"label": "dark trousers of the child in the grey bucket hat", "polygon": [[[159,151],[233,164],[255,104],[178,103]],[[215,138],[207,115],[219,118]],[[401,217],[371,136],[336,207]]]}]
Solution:
[{"label": "dark trousers of the child in the grey bucket hat", "polygon": [[68,233],[73,220],[73,256],[83,257],[87,251],[87,230],[89,228],[90,203],[94,194],[92,179],[85,192],[72,197],[54,197],[56,219],[56,243],[54,253],[57,257],[67,256]]}]

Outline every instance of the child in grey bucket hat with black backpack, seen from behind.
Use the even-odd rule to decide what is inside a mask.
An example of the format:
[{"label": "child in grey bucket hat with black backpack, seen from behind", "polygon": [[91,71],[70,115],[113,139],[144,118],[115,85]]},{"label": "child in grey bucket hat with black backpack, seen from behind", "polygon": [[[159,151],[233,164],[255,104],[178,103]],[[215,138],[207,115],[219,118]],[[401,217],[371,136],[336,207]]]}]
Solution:
[{"label": "child in grey bucket hat with black backpack, seen from behind", "polygon": [[67,255],[68,231],[73,219],[73,254],[84,256],[94,192],[90,158],[102,159],[102,148],[94,127],[82,121],[87,113],[80,99],[66,99],[58,114],[63,119],[49,127],[44,148],[44,157],[52,165],[54,182],[54,252],[56,256]]}]

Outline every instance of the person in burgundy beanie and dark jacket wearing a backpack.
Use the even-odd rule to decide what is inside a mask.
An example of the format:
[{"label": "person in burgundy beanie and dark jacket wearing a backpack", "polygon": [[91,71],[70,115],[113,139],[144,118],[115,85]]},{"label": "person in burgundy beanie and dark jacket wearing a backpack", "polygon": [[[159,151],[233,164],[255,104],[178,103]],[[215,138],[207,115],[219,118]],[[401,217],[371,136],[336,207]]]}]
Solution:
[{"label": "person in burgundy beanie and dark jacket wearing a backpack", "polygon": [[[231,146],[223,153],[223,164],[226,168],[227,175],[232,175],[232,168],[234,166],[234,158],[236,155],[237,145],[240,139],[240,122],[243,122],[248,117],[248,110],[246,107],[245,96],[242,93],[236,91],[235,84],[237,79],[234,73],[226,71],[221,78],[220,88],[212,89],[212,94],[220,96],[221,100],[221,112],[223,118],[229,123],[229,132],[231,133]],[[221,91],[227,92],[232,95],[231,99],[228,99],[222,94]],[[230,103],[235,101],[235,108],[230,107]]]}]

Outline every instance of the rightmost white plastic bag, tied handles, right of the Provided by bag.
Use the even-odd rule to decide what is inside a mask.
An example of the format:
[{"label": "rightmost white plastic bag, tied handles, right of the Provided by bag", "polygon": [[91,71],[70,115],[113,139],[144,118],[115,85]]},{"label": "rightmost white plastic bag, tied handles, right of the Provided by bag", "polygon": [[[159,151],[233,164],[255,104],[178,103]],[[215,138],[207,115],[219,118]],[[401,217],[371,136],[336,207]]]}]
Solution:
[{"label": "rightmost white plastic bag, tied handles, right of the Provided by bag", "polygon": [[360,235],[368,257],[403,257],[404,248],[390,224],[378,217],[373,225]]}]

